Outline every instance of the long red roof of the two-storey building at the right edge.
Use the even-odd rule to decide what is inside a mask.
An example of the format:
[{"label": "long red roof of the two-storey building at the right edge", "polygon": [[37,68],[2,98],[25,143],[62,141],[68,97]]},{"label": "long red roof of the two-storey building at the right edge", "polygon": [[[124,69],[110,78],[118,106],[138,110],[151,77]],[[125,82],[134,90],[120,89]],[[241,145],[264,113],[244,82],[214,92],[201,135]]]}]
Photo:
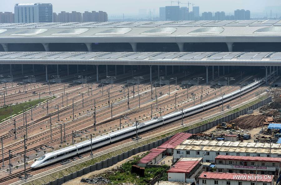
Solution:
[{"label": "long red roof of the two-storey building at the right edge", "polygon": [[242,160],[242,161],[265,161],[265,162],[277,162],[277,163],[281,162],[281,158],[233,156],[233,155],[218,155],[215,159]]}]

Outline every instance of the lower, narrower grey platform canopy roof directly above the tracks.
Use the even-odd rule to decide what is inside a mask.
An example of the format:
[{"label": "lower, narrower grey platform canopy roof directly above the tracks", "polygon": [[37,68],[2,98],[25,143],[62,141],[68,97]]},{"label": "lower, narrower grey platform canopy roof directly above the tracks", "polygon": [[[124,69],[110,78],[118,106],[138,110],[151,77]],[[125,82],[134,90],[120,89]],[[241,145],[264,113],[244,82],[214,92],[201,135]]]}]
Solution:
[{"label": "lower, narrower grey platform canopy roof directly above the tracks", "polygon": [[281,52],[0,52],[0,64],[281,66]]}]

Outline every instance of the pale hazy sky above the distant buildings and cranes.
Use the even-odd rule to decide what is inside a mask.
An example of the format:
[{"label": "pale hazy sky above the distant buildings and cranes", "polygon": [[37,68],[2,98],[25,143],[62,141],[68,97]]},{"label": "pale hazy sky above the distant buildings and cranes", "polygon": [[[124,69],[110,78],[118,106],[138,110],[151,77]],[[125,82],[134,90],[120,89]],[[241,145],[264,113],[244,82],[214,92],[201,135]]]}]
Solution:
[{"label": "pale hazy sky above the distant buildings and cranes", "polygon": [[[177,0],[173,0],[177,1]],[[200,12],[204,11],[224,11],[234,12],[235,9],[249,9],[251,12],[263,12],[266,6],[280,6],[281,0],[189,0],[200,6]],[[170,6],[167,0],[0,0],[0,12],[14,12],[15,3],[52,3],[53,12],[84,12],[84,11],[106,11],[112,14],[138,14],[139,9],[155,9],[159,12],[159,7]],[[182,3],[188,1],[181,0]],[[177,3],[173,3],[177,5]],[[180,6],[187,6],[181,4]],[[190,6],[190,8],[192,5]]]}]

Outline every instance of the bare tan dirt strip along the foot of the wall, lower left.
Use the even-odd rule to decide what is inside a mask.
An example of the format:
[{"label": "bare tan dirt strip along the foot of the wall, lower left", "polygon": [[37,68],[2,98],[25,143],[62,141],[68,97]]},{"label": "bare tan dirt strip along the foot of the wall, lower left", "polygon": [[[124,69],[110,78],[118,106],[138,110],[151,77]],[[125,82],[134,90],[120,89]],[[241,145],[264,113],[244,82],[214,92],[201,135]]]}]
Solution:
[{"label": "bare tan dirt strip along the foot of the wall, lower left", "polygon": [[130,160],[131,160],[132,158],[134,158],[135,156],[142,155],[142,154],[144,154],[144,153],[146,153],[146,151],[145,151],[145,152],[138,153],[138,154],[136,154],[136,155],[133,155],[133,156],[131,156],[130,158],[124,159],[123,161],[120,161],[119,163],[117,163],[117,164],[115,164],[115,165],[113,165],[113,166],[111,166],[111,167],[104,168],[104,169],[101,169],[101,170],[96,170],[96,171],[94,171],[94,172],[88,173],[88,174],[86,174],[86,175],[83,175],[83,176],[81,176],[81,177],[78,177],[78,178],[76,178],[76,179],[73,179],[73,180],[71,180],[71,181],[68,181],[68,182],[66,182],[66,183],[63,183],[63,185],[86,185],[86,184],[89,185],[89,183],[81,183],[81,182],[80,182],[81,179],[82,179],[82,178],[90,178],[90,177],[93,176],[93,175],[100,174],[100,173],[104,173],[104,172],[106,172],[106,171],[108,171],[108,170],[111,170],[112,168],[115,168],[115,167],[117,167],[117,166],[121,166],[123,163],[126,163],[126,162],[130,161]]}]

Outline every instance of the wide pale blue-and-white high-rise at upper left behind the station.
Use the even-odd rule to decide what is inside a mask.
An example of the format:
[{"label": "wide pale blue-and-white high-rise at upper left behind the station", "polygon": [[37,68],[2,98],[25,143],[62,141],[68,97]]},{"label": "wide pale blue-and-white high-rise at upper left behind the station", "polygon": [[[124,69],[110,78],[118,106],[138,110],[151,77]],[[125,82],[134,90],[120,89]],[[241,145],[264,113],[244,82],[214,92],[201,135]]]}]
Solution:
[{"label": "wide pale blue-and-white high-rise at upper left behind the station", "polygon": [[52,22],[51,3],[15,4],[15,22]]}]

